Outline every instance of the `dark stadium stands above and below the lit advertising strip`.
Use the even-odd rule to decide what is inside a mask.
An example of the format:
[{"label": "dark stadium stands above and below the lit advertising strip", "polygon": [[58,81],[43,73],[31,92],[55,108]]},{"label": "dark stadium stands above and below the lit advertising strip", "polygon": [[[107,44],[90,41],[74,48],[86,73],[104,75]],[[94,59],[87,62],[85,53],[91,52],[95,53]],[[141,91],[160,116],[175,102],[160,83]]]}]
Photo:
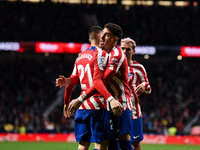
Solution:
[{"label": "dark stadium stands above and below the lit advertising strip", "polygon": [[[152,87],[150,95],[141,95],[144,133],[168,135],[175,127],[176,135],[191,135],[191,129],[200,126],[200,59],[177,56],[181,46],[200,45],[198,2],[186,1],[185,6],[174,1],[171,6],[122,2],[1,1],[0,42],[88,43],[92,25],[119,24],[123,37],[157,48],[155,55],[133,56],[145,66]],[[55,79],[71,74],[77,54],[0,50],[0,133],[73,133],[73,116],[62,115],[63,89],[55,87]],[[72,98],[79,91],[77,86]],[[193,134],[200,135],[200,130]]]}]

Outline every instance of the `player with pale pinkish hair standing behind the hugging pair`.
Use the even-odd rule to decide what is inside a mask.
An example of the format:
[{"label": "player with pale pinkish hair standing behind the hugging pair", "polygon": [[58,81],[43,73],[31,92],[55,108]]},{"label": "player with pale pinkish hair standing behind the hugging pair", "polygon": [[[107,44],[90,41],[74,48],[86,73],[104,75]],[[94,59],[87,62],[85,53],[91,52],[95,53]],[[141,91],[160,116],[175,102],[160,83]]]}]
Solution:
[{"label": "player with pale pinkish hair standing behind the hugging pair", "polygon": [[136,42],[131,38],[121,40],[121,49],[126,54],[128,60],[129,87],[133,101],[131,143],[134,150],[141,150],[141,141],[143,140],[142,130],[142,112],[139,96],[142,93],[150,94],[151,86],[149,84],[147,73],[144,66],[132,60],[135,54]]}]

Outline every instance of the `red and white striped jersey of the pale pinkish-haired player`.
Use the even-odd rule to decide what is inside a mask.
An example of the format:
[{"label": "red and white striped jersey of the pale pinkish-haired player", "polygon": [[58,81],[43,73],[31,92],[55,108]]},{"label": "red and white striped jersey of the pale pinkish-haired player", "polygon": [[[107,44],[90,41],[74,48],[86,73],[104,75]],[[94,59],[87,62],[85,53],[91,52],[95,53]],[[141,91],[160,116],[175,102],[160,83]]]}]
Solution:
[{"label": "red and white striped jersey of the pale pinkish-haired player", "polygon": [[151,93],[151,86],[149,84],[147,73],[144,66],[136,61],[128,67],[129,87],[131,91],[131,98],[133,101],[132,119],[137,119],[142,116],[140,98],[134,91],[139,84],[145,85],[144,93]]}]

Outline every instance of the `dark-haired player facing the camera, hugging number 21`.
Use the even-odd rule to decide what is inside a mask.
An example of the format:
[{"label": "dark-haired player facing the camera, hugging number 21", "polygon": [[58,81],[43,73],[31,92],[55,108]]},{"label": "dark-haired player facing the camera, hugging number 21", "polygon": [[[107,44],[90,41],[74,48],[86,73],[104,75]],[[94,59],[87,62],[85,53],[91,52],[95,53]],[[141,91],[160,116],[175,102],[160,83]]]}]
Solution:
[{"label": "dark-haired player facing the camera, hugging number 21", "polygon": [[[113,128],[115,137],[119,139],[120,148],[122,150],[133,150],[130,143],[132,102],[128,86],[128,63],[123,51],[115,47],[122,34],[121,27],[116,24],[108,23],[104,26],[100,48],[109,54],[108,65],[106,67],[102,66],[102,60],[105,59],[102,56],[103,51],[96,49],[93,84],[104,95],[107,103],[110,102],[110,106],[116,114],[112,116]],[[107,85],[109,92],[104,84]],[[92,88],[78,99],[73,100],[69,104],[69,111],[75,111],[81,101],[90,97]],[[115,99],[120,102],[120,106],[115,103]]]}]

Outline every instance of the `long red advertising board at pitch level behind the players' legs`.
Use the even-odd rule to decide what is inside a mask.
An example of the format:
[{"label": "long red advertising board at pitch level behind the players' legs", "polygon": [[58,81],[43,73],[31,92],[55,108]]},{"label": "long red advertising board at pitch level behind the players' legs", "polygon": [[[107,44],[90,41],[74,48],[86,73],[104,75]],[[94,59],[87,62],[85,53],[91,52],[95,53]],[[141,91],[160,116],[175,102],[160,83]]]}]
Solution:
[{"label": "long red advertising board at pitch level behind the players' legs", "polygon": [[[3,141],[26,141],[26,142],[76,142],[74,133],[67,134],[17,134],[0,133],[0,142]],[[144,135],[142,143],[145,144],[184,144],[200,145],[199,136],[167,136],[167,135]]]}]

